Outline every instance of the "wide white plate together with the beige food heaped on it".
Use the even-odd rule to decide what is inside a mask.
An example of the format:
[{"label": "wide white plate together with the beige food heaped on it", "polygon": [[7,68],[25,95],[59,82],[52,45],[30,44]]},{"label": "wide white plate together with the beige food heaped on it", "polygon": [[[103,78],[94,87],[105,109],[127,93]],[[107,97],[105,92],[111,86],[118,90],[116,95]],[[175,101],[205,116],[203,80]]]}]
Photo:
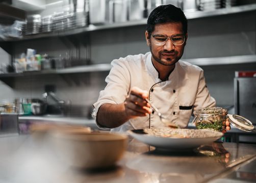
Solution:
[{"label": "wide white plate together with the beige food heaped on it", "polygon": [[169,151],[191,150],[223,136],[223,133],[213,130],[171,128],[131,130],[128,133],[143,143]]}]

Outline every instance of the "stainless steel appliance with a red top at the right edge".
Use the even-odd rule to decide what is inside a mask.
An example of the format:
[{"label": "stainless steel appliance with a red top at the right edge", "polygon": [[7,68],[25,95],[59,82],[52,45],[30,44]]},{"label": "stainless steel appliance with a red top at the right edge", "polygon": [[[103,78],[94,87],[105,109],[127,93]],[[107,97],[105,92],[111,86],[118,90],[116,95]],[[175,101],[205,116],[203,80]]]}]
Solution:
[{"label": "stainless steel appliance with a red top at the right edge", "polygon": [[236,71],[234,78],[235,113],[256,125],[256,71]]}]

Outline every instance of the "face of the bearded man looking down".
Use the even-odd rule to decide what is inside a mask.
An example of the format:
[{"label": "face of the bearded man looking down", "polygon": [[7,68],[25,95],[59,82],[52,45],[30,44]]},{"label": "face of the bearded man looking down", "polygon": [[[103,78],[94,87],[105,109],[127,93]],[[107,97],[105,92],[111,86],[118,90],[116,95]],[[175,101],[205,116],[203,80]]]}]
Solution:
[{"label": "face of the bearded man looking down", "polygon": [[[152,62],[157,65],[174,66],[182,57],[184,47],[187,41],[187,34],[184,35],[181,22],[168,22],[155,25],[155,30],[149,35],[145,33],[147,45],[150,47]],[[184,35],[185,42],[182,45],[174,45],[171,39],[168,39],[164,45],[157,45],[153,40],[153,35],[171,36]],[[159,63],[159,64],[158,64]]]}]

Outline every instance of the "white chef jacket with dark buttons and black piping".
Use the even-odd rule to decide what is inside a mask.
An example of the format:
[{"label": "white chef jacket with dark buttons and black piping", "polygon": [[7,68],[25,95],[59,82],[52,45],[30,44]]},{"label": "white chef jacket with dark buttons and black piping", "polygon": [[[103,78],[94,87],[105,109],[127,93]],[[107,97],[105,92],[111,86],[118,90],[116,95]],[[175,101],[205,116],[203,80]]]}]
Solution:
[{"label": "white chef jacket with dark buttons and black piping", "polygon": [[[149,100],[174,124],[186,128],[192,111],[215,106],[215,99],[209,94],[198,66],[179,60],[168,80],[159,79],[159,74],[151,62],[151,53],[128,55],[114,59],[106,77],[107,86],[100,91],[98,101],[93,104],[92,116],[96,118],[101,105],[120,104],[129,95],[132,87],[148,91]],[[97,124],[99,128],[106,129]],[[144,128],[165,128],[156,112],[143,117],[130,119],[112,131]]]}]

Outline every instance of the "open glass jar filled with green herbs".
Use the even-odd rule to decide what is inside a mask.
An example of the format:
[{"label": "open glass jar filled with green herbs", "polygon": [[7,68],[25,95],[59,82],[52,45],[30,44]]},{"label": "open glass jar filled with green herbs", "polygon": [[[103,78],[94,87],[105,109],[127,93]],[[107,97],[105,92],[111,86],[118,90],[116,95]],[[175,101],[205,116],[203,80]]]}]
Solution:
[{"label": "open glass jar filled with green herbs", "polygon": [[227,110],[221,107],[208,107],[194,111],[192,123],[197,129],[211,129],[222,131],[222,124],[226,121]]}]

